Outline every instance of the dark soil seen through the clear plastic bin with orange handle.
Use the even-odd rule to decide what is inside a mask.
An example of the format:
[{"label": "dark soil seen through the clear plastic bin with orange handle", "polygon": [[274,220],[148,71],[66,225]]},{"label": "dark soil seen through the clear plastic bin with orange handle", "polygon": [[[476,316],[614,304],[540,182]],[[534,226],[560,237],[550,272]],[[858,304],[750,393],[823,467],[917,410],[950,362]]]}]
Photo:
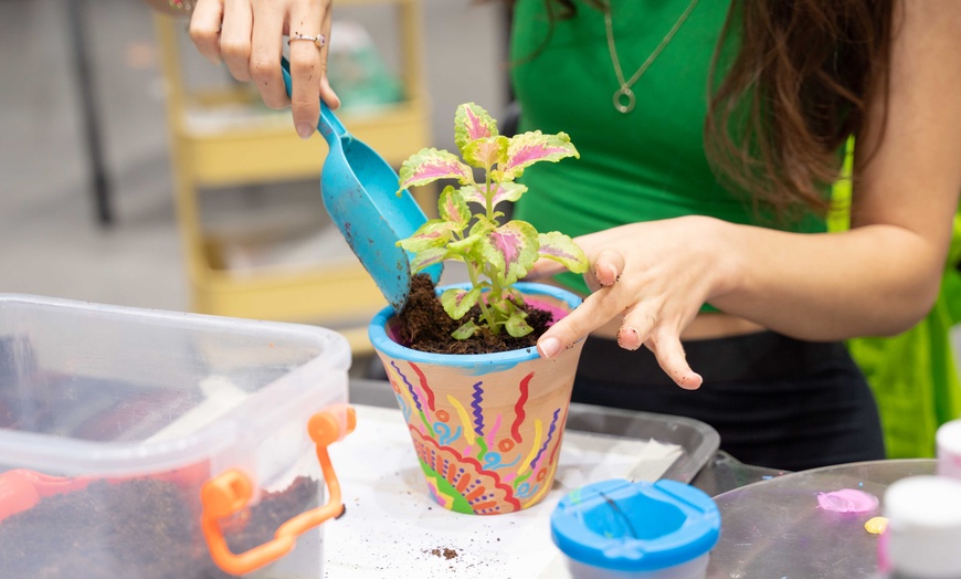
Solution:
[{"label": "dark soil seen through the clear plastic bin with orange handle", "polygon": [[[284,522],[314,508],[317,484],[299,477],[222,522],[231,550],[240,554],[271,540]],[[0,577],[233,577],[211,560],[200,531],[199,497],[187,495],[173,483],[138,478],[98,481],[46,497],[0,522]]]}]

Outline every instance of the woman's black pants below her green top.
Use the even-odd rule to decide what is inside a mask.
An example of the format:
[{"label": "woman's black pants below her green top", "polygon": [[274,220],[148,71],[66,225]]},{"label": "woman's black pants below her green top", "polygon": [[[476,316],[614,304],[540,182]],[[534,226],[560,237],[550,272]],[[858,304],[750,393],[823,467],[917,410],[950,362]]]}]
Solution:
[{"label": "woman's black pants below her green top", "polygon": [[700,420],[746,464],[801,471],[885,457],[877,406],[843,344],[762,331],[684,348],[704,377],[698,390],[676,386],[646,348],[589,338],[573,400]]}]

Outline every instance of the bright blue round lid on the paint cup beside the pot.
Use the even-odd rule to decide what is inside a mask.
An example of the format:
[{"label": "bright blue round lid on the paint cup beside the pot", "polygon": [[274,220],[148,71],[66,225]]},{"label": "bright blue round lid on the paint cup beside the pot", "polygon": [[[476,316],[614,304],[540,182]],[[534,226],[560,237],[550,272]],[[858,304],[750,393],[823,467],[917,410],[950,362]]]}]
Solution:
[{"label": "bright blue round lid on the paint cup beside the pot", "polygon": [[611,480],[564,496],[550,527],[555,544],[571,559],[653,571],[708,552],[720,535],[720,512],[710,496],[684,483]]}]

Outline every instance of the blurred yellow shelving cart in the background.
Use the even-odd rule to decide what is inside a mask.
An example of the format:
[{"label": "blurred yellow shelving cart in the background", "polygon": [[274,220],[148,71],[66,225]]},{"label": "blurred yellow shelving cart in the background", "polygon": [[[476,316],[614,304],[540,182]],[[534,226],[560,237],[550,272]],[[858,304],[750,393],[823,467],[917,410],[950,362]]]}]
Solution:
[{"label": "blurred yellow shelving cart in the background", "polygon": [[[421,0],[341,0],[337,7],[351,4],[395,8],[405,99],[376,113],[338,116],[351,134],[398,167],[430,143],[422,80]],[[187,56],[181,54],[183,21],[157,14],[155,25],[167,82],[171,161],[191,308],[205,314],[319,324],[345,334],[356,352],[368,351],[367,322],[386,301],[356,256],[347,252],[344,259],[299,270],[235,272],[224,259],[228,240],[202,227],[203,189],[319,181],[327,151],[323,137],[315,135],[304,141],[295,134],[289,114],[267,110],[230,122],[209,122],[223,117],[224,112],[229,117],[235,109],[256,110],[250,106],[252,93],[241,87],[188,87],[181,62]]]}]

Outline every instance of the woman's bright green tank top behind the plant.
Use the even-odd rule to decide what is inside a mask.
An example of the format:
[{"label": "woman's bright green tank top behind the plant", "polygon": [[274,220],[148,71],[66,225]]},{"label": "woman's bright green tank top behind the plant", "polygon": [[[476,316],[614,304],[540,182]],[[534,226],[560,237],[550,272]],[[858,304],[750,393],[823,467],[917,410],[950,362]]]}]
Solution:
[{"label": "woman's bright green tank top behind the plant", "polygon": [[[631,87],[636,105],[614,108],[620,87],[603,13],[574,0],[577,15],[550,33],[543,0],[517,0],[510,56],[520,105],[519,130],[564,131],[580,159],[525,170],[528,186],[514,217],[538,231],[582,235],[626,223],[710,215],[757,223],[750,201],[725,189],[708,166],[704,120],[708,74],[728,2],[700,0],[644,75]],[[664,39],[688,0],[611,0],[614,40],[630,78]],[[822,232],[810,215],[795,231]],[[583,293],[580,275],[558,276]]]}]

